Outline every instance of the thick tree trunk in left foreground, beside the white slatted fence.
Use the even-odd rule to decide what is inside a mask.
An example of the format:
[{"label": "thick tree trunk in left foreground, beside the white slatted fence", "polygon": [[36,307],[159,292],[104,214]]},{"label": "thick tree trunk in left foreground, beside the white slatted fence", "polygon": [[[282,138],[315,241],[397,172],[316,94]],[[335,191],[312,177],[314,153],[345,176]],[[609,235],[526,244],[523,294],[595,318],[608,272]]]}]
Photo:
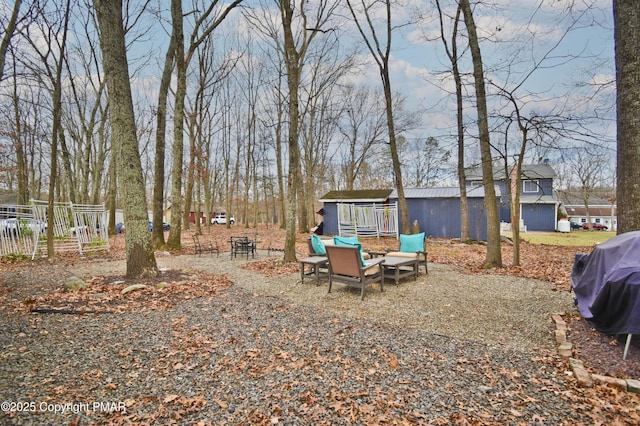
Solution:
[{"label": "thick tree trunk in left foreground, beside the white slatted fence", "polygon": [[127,223],[126,276],[157,276],[158,267],[149,234],[147,200],[129,83],[122,27],[122,0],[94,0],[93,5],[98,17],[100,47],[109,96],[113,155],[118,159],[118,176]]}]

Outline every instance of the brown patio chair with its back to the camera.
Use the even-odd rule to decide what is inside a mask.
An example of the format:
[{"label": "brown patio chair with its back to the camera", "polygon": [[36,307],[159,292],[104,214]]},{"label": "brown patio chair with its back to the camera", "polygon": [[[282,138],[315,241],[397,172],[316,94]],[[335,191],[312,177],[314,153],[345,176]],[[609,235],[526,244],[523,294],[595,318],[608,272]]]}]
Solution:
[{"label": "brown patio chair with its back to the camera", "polygon": [[334,281],[360,288],[360,300],[364,299],[369,284],[379,282],[380,291],[384,291],[384,276],[380,267],[383,258],[364,261],[361,248],[356,245],[328,245],[325,248],[329,259],[329,293]]}]

